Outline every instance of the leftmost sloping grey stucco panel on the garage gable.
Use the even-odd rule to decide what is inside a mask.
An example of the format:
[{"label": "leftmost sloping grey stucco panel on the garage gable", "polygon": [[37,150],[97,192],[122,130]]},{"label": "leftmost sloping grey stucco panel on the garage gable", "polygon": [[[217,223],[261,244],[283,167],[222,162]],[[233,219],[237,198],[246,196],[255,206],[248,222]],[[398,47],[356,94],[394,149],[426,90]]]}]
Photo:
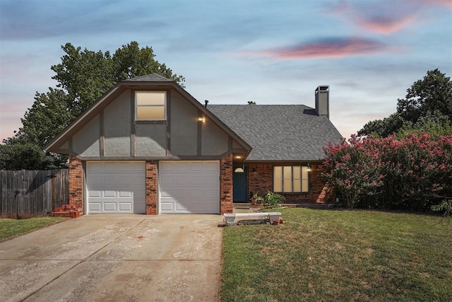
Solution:
[{"label": "leftmost sloping grey stucco panel on the garage gable", "polygon": [[[72,137],[72,150],[81,156],[99,156],[100,119],[97,115]],[[67,146],[67,147],[66,147]],[[64,144],[61,148],[69,148]]]}]

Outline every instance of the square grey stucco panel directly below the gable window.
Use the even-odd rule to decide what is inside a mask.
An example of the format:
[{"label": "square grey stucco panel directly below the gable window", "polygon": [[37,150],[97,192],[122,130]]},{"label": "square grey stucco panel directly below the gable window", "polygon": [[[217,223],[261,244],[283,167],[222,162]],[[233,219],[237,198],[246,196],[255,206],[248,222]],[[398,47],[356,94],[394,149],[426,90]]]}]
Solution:
[{"label": "square grey stucco panel directly below the gable window", "polygon": [[167,135],[165,124],[136,124],[135,155],[165,156]]}]

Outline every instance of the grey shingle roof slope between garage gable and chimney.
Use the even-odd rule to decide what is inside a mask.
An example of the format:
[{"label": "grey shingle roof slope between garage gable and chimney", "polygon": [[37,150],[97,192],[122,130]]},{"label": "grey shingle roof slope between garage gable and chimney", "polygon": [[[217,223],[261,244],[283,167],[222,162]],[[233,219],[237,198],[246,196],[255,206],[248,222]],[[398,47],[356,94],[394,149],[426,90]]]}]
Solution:
[{"label": "grey shingle roof slope between garage gable and chimney", "polygon": [[326,116],[305,105],[208,105],[253,149],[249,161],[316,161],[342,136]]}]

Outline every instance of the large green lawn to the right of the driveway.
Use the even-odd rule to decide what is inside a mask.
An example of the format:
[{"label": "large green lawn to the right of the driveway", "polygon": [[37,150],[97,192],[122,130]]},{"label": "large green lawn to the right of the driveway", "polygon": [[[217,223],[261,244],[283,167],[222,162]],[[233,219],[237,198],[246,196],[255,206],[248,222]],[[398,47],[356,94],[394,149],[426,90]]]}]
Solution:
[{"label": "large green lawn to the right of the driveway", "polygon": [[225,228],[221,301],[452,301],[452,219],[280,211]]}]

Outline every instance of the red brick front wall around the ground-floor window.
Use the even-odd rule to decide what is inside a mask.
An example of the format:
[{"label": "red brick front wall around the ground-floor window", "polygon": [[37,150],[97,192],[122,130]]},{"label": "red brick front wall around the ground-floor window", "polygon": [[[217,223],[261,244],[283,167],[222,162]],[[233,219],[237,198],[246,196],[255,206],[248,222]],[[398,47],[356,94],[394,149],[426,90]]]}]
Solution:
[{"label": "red brick front wall around the ground-floor window", "polygon": [[[309,172],[309,192],[307,193],[282,193],[287,202],[327,202],[333,198],[333,193],[321,182],[320,171],[316,164],[311,164]],[[273,191],[273,165],[268,163],[248,165],[248,194],[263,195],[267,191]]]}]

